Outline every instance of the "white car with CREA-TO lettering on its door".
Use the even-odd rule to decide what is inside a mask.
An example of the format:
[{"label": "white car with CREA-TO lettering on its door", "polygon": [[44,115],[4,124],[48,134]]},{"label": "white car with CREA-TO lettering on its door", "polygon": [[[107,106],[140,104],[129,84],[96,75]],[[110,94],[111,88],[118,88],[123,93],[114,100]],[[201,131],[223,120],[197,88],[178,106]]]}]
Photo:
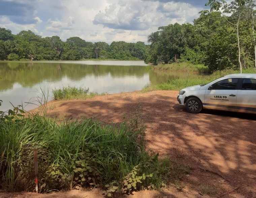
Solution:
[{"label": "white car with CREA-TO lettering on its door", "polygon": [[256,74],[230,74],[211,83],[184,88],[180,105],[190,113],[203,108],[256,113]]}]

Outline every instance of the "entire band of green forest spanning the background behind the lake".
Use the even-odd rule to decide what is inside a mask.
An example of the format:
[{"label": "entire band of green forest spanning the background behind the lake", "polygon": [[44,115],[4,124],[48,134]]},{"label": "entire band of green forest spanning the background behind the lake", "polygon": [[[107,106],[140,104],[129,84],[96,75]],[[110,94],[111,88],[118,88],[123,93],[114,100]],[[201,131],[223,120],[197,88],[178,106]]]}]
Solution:
[{"label": "entire band of green forest spanning the background behind the lake", "polygon": [[[144,60],[146,63],[189,61],[204,64],[210,71],[225,68],[256,68],[254,33],[256,0],[209,0],[209,10],[200,11],[193,25],[170,24],[158,28],[144,42],[86,42],[70,37],[42,38],[29,31],[12,35],[0,28],[0,60]],[[226,14],[226,15],[225,15]],[[228,16],[227,16],[228,15]]]}]

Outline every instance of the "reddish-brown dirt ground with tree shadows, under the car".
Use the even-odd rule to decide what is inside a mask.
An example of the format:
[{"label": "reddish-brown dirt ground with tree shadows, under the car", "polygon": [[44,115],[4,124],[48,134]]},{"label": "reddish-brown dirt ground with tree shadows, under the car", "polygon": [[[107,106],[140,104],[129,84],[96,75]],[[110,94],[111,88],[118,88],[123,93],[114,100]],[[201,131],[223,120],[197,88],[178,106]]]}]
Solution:
[{"label": "reddish-brown dirt ground with tree shadows, under the car", "polygon": [[[256,197],[256,115],[203,110],[188,113],[178,105],[177,91],[120,93],[88,100],[53,101],[51,117],[97,117],[120,123],[141,107],[150,148],[191,168],[181,181],[181,191],[140,191],[124,197],[202,197],[198,189],[209,187],[221,197]],[[0,198],[17,197],[103,197],[101,190],[70,191],[35,196],[34,193],[0,193]],[[120,196],[120,195],[118,195]],[[208,197],[208,196],[203,196]]]}]

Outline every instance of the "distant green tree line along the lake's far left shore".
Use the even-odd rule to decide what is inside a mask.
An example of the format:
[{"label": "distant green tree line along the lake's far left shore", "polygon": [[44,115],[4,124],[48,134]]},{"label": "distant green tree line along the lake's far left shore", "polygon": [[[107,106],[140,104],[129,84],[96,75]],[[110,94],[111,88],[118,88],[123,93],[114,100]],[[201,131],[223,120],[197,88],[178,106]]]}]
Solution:
[{"label": "distant green tree line along the lake's far left shore", "polygon": [[143,60],[147,54],[147,45],[140,41],[113,41],[109,45],[70,37],[63,42],[59,36],[42,38],[30,30],[13,35],[11,30],[0,28],[0,60]]}]

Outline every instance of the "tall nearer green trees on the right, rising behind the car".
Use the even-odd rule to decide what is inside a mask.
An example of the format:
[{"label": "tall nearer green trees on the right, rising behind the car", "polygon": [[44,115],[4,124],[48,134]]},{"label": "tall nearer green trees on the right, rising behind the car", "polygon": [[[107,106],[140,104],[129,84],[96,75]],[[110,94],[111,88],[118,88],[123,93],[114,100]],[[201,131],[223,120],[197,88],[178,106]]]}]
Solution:
[{"label": "tall nearer green trees on the right, rising behind the car", "polygon": [[[146,63],[189,61],[211,71],[256,68],[255,0],[209,0],[192,24],[159,27],[148,36]],[[228,14],[228,16],[227,16]]]}]

